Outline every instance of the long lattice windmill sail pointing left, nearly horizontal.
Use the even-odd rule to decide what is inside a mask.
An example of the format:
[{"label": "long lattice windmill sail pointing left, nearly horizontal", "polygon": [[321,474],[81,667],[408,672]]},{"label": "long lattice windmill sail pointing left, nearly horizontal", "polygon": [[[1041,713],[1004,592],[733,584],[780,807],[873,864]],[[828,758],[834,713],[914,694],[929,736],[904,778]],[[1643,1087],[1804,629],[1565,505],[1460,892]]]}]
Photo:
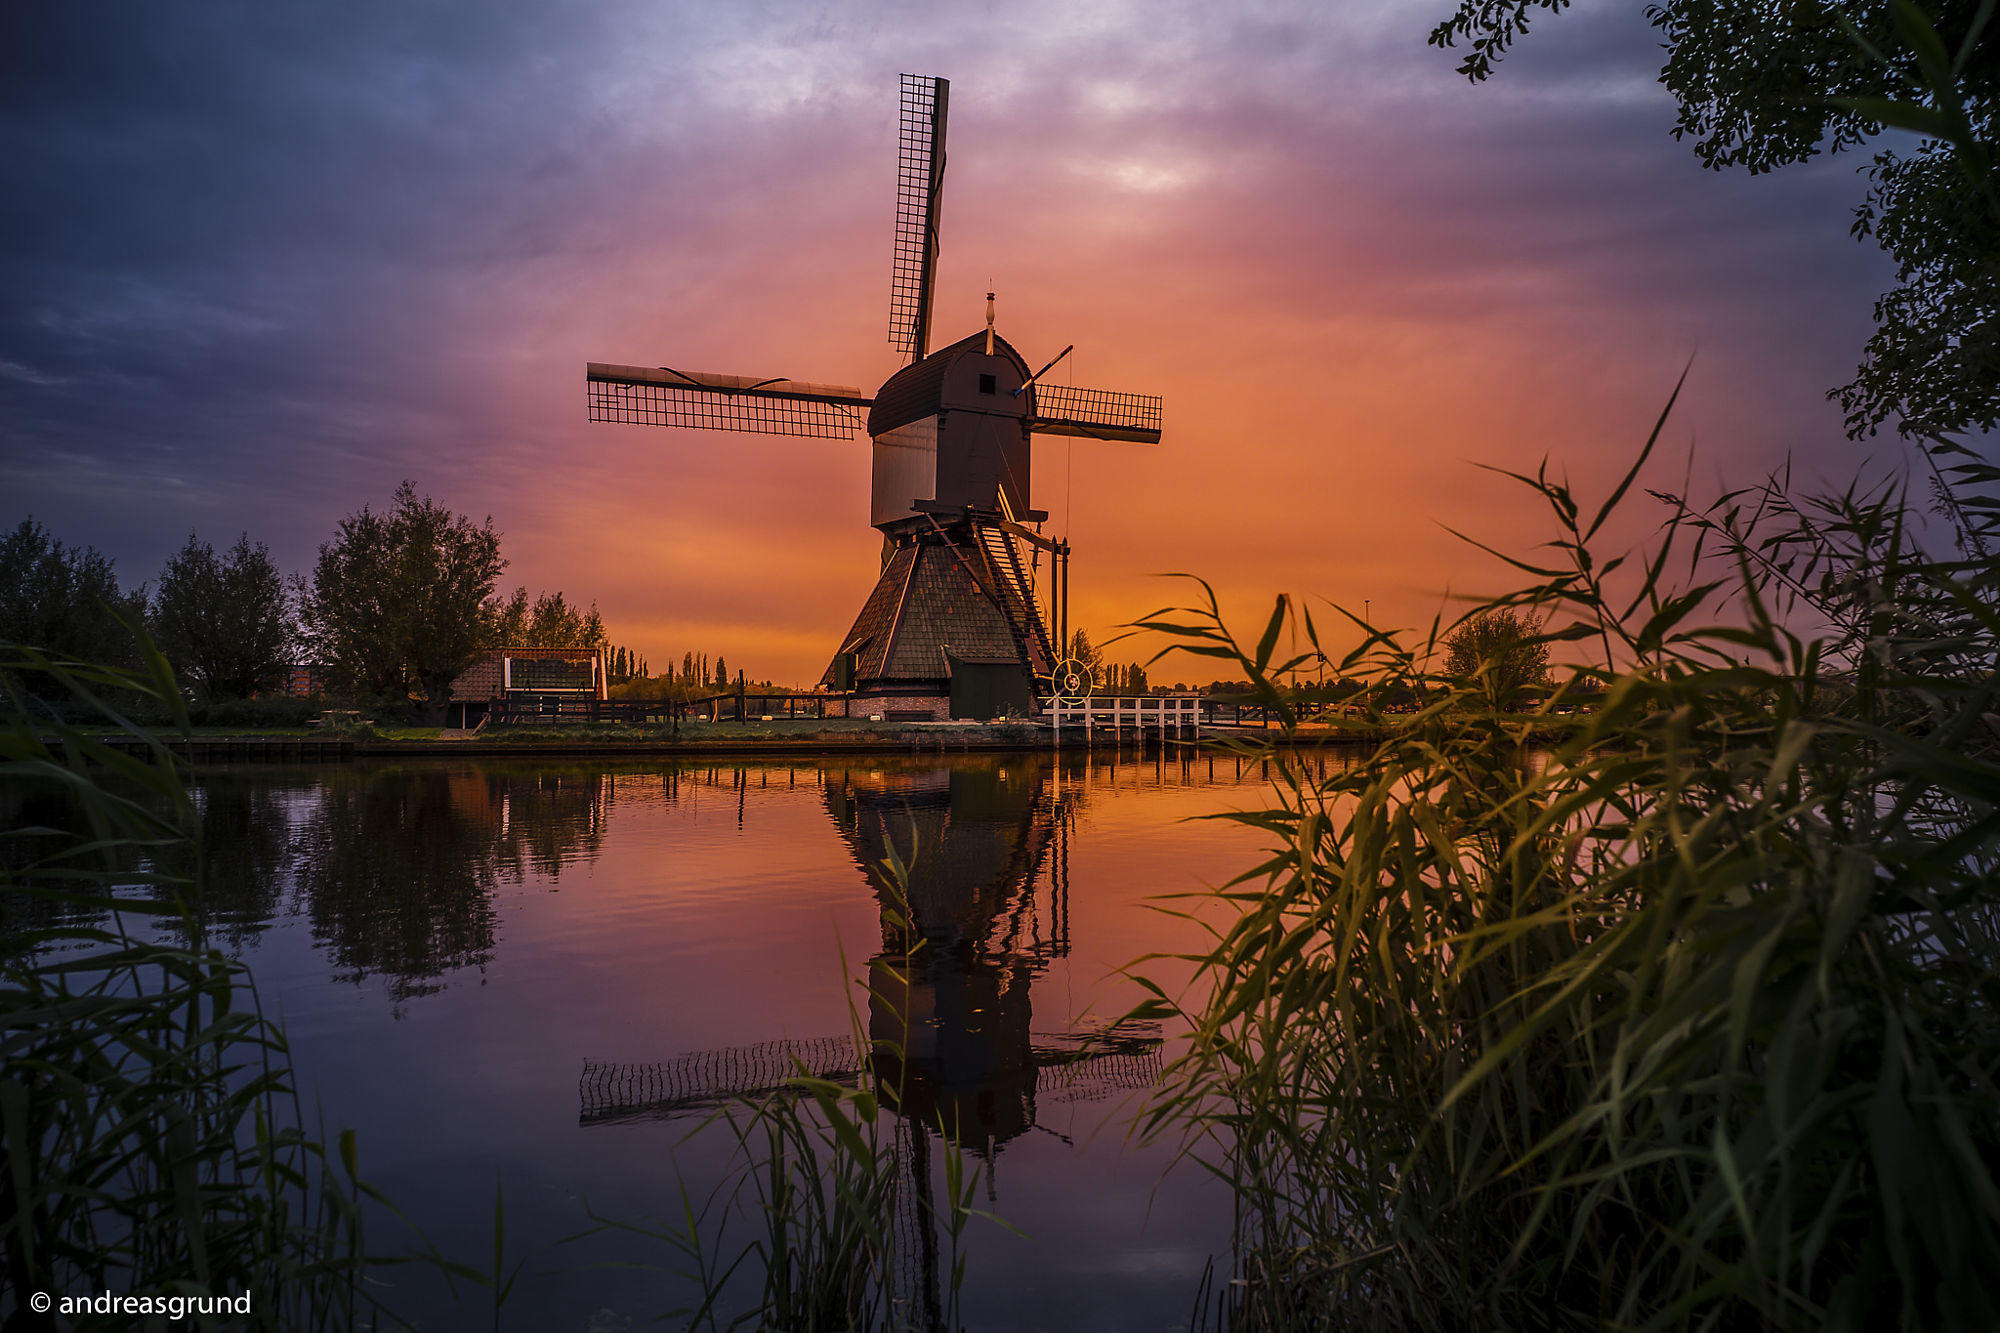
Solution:
[{"label": "long lattice windmill sail pointing left, nearly horizontal", "polygon": [[846,384],[590,362],[590,420],[848,440],[872,398]]}]

